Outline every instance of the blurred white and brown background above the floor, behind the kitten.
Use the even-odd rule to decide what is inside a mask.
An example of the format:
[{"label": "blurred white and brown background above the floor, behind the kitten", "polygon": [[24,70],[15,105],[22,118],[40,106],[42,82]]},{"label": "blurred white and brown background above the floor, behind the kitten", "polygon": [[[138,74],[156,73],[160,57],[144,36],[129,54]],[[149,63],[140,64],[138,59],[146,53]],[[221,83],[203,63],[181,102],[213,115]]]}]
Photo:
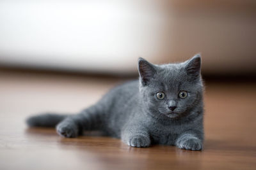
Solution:
[{"label": "blurred white and brown background above the floor, behind the kitten", "polygon": [[256,1],[1,0],[0,66],[137,75],[203,57],[208,75],[255,75]]}]

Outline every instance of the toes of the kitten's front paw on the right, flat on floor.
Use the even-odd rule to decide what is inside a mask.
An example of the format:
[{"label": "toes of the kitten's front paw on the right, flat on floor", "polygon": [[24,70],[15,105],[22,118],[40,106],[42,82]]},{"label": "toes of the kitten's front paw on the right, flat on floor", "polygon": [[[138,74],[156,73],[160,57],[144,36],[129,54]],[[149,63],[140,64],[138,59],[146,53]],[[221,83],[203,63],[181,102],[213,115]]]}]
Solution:
[{"label": "toes of the kitten's front paw on the right, flat on floor", "polygon": [[177,146],[185,150],[202,150],[202,141],[197,138],[188,138],[180,141]]}]

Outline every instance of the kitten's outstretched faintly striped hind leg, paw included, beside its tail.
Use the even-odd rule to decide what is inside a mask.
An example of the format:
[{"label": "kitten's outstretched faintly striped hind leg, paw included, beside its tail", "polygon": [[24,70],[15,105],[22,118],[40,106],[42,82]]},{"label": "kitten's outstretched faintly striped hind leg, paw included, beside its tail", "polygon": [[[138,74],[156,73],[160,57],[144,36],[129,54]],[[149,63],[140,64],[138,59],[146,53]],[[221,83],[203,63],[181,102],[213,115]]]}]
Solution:
[{"label": "kitten's outstretched faintly striped hind leg, paw included, beside its tail", "polygon": [[102,126],[104,114],[100,105],[86,108],[77,115],[70,115],[56,126],[60,136],[76,138],[84,130],[98,130]]}]

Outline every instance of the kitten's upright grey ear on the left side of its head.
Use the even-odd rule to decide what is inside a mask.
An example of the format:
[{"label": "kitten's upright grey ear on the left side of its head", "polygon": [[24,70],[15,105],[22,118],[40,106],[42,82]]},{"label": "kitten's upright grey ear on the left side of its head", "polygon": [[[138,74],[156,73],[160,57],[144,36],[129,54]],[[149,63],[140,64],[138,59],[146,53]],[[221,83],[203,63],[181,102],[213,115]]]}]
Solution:
[{"label": "kitten's upright grey ear on the left side of its head", "polygon": [[138,70],[143,86],[147,85],[154,74],[156,74],[155,66],[141,57],[138,60]]}]

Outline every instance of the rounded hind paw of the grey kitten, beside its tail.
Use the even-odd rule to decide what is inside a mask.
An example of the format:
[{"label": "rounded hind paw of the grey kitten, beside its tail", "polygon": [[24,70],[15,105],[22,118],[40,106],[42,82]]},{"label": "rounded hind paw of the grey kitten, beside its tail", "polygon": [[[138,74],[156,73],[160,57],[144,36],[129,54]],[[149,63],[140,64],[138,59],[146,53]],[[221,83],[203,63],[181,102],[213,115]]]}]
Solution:
[{"label": "rounded hind paw of the grey kitten, beside its tail", "polygon": [[65,138],[76,138],[78,129],[75,124],[62,122],[56,127],[57,133]]}]

